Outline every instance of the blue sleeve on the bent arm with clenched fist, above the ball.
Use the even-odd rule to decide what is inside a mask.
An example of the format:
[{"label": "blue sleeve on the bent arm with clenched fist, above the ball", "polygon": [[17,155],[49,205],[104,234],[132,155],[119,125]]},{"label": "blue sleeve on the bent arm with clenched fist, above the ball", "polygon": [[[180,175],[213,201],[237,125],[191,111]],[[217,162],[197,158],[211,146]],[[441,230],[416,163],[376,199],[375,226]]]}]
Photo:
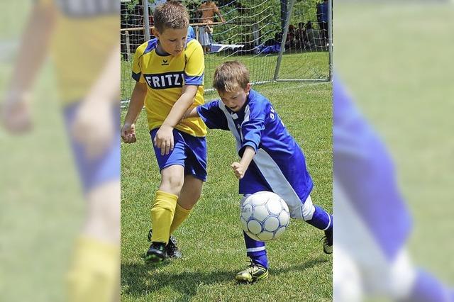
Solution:
[{"label": "blue sleeve on the bent arm with clenched fist, above the ball", "polygon": [[265,116],[267,116],[267,110],[269,106],[265,102],[258,104],[251,104],[249,106],[249,112],[246,112],[246,116],[243,124],[241,125],[241,135],[243,136],[243,143],[240,146],[238,154],[243,155],[245,147],[252,147],[255,152],[260,145],[262,139],[262,131],[265,129]]}]

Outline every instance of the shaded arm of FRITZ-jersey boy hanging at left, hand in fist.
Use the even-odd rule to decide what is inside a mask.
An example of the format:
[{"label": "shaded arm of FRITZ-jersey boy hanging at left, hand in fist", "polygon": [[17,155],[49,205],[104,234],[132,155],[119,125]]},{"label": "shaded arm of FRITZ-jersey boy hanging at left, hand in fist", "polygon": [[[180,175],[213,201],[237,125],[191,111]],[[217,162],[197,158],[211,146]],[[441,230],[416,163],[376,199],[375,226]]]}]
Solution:
[{"label": "shaded arm of FRITZ-jersey boy hanging at left, hand in fist", "polygon": [[123,128],[121,128],[121,138],[126,143],[135,142],[135,121],[142,111],[145,96],[147,94],[147,84],[136,82],[129,102],[128,113],[126,113]]}]

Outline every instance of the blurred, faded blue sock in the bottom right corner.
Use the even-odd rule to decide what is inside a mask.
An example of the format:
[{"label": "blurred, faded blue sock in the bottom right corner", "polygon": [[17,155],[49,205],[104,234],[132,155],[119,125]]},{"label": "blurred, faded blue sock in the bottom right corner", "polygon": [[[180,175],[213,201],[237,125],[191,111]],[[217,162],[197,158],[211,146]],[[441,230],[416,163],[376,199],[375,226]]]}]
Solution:
[{"label": "blurred, faded blue sock in the bottom right corner", "polygon": [[[419,269],[409,298],[404,301],[432,302],[451,301],[449,290],[434,276]],[[451,293],[452,294],[452,293]]]}]

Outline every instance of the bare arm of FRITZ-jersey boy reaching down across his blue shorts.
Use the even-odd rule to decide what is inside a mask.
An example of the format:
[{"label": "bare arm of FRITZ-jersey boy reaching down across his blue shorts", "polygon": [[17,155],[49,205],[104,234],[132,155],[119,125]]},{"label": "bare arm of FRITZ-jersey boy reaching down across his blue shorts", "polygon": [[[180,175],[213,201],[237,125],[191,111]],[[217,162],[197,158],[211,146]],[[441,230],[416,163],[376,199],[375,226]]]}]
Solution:
[{"label": "bare arm of FRITZ-jersey boy reaching down across his blue shorts", "polygon": [[179,96],[178,100],[172,106],[169,115],[165,118],[164,123],[157,130],[154,144],[155,147],[160,148],[161,155],[167,155],[173,150],[173,128],[181,121],[189,106],[194,103],[194,97],[198,88],[199,86],[196,85],[183,86],[182,95]]}]

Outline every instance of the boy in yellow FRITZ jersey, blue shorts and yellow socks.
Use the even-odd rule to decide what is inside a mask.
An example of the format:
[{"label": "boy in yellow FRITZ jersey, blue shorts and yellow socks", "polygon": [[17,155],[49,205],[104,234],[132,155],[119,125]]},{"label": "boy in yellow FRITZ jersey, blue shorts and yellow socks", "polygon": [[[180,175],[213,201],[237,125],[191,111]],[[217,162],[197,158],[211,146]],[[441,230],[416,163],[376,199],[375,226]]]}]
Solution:
[{"label": "boy in yellow FRITZ jersey, blue shorts and yellow socks", "polygon": [[[199,200],[206,180],[206,126],[200,118],[182,121],[188,108],[204,104],[204,52],[187,38],[189,13],[177,1],[167,1],[153,13],[155,39],[135,51],[131,96],[121,137],[135,142],[135,121],[143,108],[153,141],[161,182],[151,210],[153,234],[148,261],[158,262],[175,249],[173,231]],[[171,246],[173,245],[173,246]],[[172,250],[172,255],[175,251]]]}]

